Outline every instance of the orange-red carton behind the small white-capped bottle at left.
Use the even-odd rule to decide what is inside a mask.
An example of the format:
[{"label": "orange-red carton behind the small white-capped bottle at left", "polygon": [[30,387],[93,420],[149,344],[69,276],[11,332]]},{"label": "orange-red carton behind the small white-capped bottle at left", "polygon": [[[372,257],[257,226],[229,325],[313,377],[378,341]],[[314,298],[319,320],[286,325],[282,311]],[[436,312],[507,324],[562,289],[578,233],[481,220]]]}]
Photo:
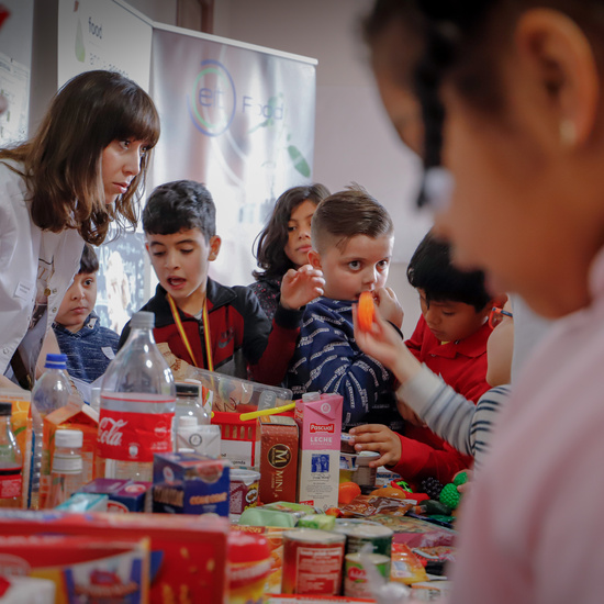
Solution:
[{"label": "orange-red carton behind the small white-capped bottle at left", "polygon": [[55,432],[57,429],[79,429],[83,435],[81,459],[83,463],[83,482],[96,477],[94,456],[97,450],[97,432],[99,414],[90,405],[69,401],[44,417],[42,440],[42,467],[40,471],[40,506],[46,505],[51,491],[51,467],[55,454]]}]

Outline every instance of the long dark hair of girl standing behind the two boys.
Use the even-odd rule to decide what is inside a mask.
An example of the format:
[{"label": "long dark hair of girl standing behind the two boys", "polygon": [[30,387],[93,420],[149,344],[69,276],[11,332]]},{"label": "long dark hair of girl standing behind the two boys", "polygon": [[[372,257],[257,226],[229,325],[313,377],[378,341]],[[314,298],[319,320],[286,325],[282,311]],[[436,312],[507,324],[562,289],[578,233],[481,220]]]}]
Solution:
[{"label": "long dark hair of girl standing behind the two boys", "polygon": [[255,279],[262,277],[278,279],[290,268],[295,268],[284,251],[291,213],[306,200],[318,205],[320,201],[328,194],[327,187],[315,182],[314,184],[292,187],[279,195],[267,225],[255,241],[256,253],[254,256],[258,261],[258,267],[264,269],[262,271],[255,270],[251,273]]}]

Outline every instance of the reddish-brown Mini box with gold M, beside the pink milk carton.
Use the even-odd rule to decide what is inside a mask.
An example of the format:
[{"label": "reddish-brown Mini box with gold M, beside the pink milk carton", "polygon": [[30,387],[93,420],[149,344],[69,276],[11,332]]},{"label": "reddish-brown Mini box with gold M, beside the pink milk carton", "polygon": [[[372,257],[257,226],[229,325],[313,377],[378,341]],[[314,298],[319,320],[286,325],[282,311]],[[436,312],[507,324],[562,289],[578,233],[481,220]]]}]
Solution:
[{"label": "reddish-brown Mini box with gold M, beside the pink milk carton", "polygon": [[298,496],[298,424],[284,415],[260,417],[260,501]]}]

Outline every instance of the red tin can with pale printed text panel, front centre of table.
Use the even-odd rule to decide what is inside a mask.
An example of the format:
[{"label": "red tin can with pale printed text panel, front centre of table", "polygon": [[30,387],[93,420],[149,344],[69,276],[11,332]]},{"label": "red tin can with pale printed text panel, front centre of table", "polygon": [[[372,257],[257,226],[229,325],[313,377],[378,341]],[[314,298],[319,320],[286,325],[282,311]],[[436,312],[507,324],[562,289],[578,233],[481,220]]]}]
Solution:
[{"label": "red tin can with pale printed text panel, front centre of table", "polygon": [[345,535],[314,528],[283,533],[282,593],[338,595],[345,541]]}]

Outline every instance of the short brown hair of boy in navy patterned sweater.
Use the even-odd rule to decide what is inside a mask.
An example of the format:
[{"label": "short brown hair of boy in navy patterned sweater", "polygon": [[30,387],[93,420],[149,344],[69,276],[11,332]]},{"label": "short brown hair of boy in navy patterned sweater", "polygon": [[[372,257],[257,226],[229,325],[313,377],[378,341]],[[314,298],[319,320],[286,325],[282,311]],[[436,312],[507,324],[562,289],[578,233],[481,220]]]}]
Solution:
[{"label": "short brown hair of boy in navy patterned sweater", "polygon": [[357,183],[325,198],[311,223],[313,247],[320,254],[328,245],[328,238],[337,239],[336,247],[343,249],[356,235],[376,238],[393,231],[387,209]]}]

